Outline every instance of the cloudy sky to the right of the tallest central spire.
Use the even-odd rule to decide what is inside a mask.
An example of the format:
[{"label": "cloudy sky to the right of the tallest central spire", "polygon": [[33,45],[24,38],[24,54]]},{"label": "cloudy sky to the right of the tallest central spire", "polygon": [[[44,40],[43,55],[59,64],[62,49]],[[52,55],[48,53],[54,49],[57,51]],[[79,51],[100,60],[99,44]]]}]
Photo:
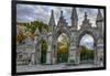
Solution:
[{"label": "cloudy sky to the right of the tallest central spire", "polygon": [[[101,10],[101,14],[103,17],[103,10]],[[82,23],[82,20],[84,20],[84,15],[85,15],[85,12],[87,12],[87,15],[88,15],[88,19],[91,23],[92,26],[96,26],[96,19],[97,19],[97,13],[98,13],[98,9],[90,9],[90,8],[77,8],[77,13],[78,13],[78,23],[79,25]]]}]

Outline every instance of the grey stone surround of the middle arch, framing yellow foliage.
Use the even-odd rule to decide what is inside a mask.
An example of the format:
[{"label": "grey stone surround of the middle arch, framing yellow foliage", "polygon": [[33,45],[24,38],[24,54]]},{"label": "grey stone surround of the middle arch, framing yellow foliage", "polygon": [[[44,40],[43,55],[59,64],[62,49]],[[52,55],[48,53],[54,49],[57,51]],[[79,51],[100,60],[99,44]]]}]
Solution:
[{"label": "grey stone surround of the middle arch, framing yellow foliage", "polygon": [[70,32],[66,28],[58,28],[55,30],[53,35],[53,50],[54,50],[54,63],[57,63],[57,39],[61,34],[65,34],[68,39],[67,43],[67,59],[64,63],[68,62],[69,57],[69,46],[70,46]]}]

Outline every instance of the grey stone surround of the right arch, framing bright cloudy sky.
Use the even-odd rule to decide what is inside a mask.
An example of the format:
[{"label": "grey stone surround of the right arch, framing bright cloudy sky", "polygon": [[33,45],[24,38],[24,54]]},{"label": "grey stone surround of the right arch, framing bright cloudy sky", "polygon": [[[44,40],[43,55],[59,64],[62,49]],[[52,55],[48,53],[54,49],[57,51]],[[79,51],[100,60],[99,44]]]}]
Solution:
[{"label": "grey stone surround of the right arch, framing bright cloudy sky", "polygon": [[77,44],[76,44],[76,61],[77,64],[80,64],[80,40],[85,34],[89,34],[90,36],[94,37],[94,50],[95,50],[95,59],[94,59],[94,64],[97,64],[97,59],[98,59],[98,51],[97,51],[97,37],[96,34],[92,30],[80,30],[79,34],[77,35]]}]

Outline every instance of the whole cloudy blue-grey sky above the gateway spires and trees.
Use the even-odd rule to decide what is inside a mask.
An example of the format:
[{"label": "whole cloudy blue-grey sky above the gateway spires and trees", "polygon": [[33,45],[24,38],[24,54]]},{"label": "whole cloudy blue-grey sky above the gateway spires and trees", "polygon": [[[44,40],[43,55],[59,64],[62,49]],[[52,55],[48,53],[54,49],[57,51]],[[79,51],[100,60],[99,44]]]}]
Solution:
[{"label": "whole cloudy blue-grey sky above the gateway spires and trees", "polygon": [[[18,4],[16,6],[16,21],[18,22],[31,22],[31,21],[43,21],[44,23],[48,23],[51,11],[54,10],[55,23],[59,19],[61,10],[63,10],[64,18],[68,25],[70,25],[70,15],[72,15],[72,7],[52,7],[52,6],[37,6],[37,4]],[[76,8],[78,14],[78,26],[81,25],[85,12],[88,14],[88,19],[92,26],[95,26],[96,17],[98,13],[98,9],[91,8]],[[103,10],[101,13],[103,15]]]}]

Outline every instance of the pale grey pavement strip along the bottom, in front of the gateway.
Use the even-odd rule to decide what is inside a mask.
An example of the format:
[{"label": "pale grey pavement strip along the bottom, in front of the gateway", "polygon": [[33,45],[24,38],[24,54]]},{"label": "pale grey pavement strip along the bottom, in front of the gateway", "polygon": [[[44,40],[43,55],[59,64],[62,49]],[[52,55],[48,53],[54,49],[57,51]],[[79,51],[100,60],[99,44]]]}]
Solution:
[{"label": "pale grey pavement strip along the bottom, in front of the gateway", "polygon": [[91,64],[82,64],[76,66],[66,66],[63,64],[58,65],[25,65],[25,66],[16,66],[16,72],[38,72],[38,70],[55,70],[55,69],[76,69],[76,68],[94,68],[99,67]]}]

